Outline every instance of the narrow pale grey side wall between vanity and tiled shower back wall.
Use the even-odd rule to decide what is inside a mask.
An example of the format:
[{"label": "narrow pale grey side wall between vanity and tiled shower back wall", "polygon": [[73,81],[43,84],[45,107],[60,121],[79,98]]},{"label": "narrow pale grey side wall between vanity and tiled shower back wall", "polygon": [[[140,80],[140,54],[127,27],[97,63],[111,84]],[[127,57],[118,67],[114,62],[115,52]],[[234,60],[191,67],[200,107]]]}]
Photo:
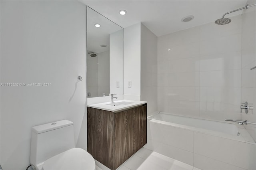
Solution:
[{"label": "narrow pale grey side wall between vanity and tiled shower back wall", "polygon": [[148,116],[157,111],[157,37],[141,24],[140,100],[147,101]]}]

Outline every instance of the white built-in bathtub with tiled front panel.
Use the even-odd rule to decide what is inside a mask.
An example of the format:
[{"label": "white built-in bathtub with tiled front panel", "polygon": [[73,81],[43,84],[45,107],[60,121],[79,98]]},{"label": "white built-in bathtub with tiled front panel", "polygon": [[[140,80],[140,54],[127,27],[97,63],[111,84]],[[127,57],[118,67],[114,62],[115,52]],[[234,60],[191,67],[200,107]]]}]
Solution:
[{"label": "white built-in bathtub with tiled front panel", "polygon": [[256,169],[256,143],[244,125],[169,113],[147,121],[145,148],[204,170]]}]

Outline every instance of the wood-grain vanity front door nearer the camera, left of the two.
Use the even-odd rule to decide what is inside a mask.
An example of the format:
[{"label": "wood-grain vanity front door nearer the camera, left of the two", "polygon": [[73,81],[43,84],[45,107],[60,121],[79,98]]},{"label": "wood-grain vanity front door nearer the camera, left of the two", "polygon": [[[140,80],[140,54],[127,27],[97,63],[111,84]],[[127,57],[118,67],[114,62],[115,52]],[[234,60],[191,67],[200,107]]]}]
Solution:
[{"label": "wood-grain vanity front door nearer the camera, left of the two", "polygon": [[114,115],[114,169],[133,154],[133,115],[135,109]]}]

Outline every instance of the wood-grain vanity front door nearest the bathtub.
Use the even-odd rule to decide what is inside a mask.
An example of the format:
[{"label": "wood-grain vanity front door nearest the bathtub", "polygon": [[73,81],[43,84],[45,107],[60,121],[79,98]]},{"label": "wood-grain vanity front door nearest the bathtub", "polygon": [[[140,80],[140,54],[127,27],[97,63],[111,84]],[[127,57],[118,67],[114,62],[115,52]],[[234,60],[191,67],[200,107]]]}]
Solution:
[{"label": "wood-grain vanity front door nearest the bathtub", "polygon": [[147,105],[135,108],[133,153],[147,143]]}]

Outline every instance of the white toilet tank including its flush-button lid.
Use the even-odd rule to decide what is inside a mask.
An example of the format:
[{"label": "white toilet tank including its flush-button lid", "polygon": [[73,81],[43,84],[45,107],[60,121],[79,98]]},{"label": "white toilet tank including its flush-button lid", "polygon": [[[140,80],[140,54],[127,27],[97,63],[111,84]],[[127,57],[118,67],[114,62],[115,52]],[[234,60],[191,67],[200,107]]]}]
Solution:
[{"label": "white toilet tank including its flush-button lid", "polygon": [[73,122],[62,120],[32,127],[30,164],[38,166],[48,158],[75,147]]}]

